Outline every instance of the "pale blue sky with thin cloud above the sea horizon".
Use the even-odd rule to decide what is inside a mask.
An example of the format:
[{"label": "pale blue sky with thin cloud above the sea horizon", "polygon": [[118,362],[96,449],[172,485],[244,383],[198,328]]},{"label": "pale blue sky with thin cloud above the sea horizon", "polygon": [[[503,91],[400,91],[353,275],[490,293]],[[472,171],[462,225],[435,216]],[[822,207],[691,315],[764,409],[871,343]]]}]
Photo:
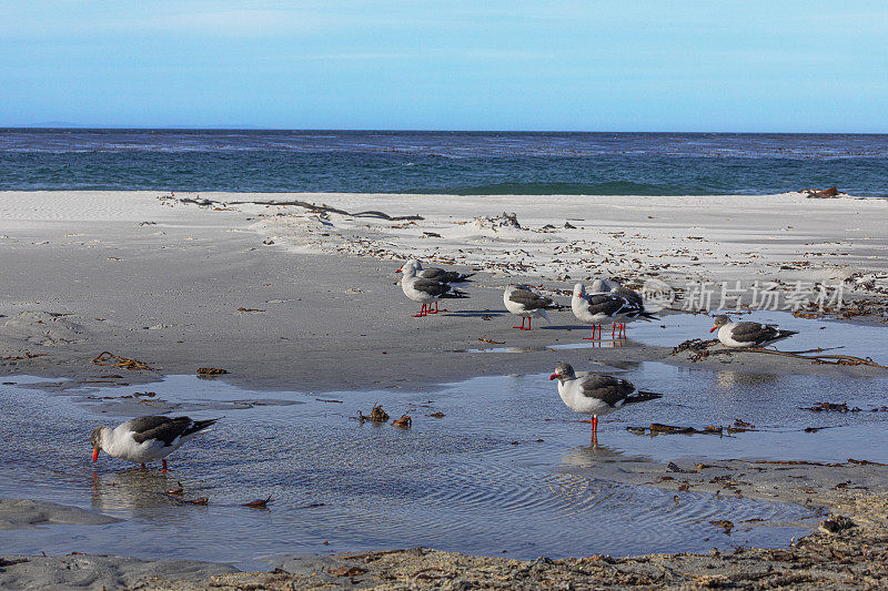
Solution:
[{"label": "pale blue sky with thin cloud above the sea horizon", "polygon": [[0,1],[0,125],[888,132],[885,1]]}]

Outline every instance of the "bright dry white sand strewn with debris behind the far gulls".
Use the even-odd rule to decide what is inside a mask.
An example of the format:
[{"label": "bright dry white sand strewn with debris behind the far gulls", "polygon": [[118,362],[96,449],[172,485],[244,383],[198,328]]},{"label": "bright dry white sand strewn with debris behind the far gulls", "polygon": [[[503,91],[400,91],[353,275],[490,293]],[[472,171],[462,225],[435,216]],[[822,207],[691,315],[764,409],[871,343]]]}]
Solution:
[{"label": "bright dry white sand strewn with debris behind the far gulls", "polygon": [[[242,195],[203,195],[245,201]],[[254,195],[349,212],[421,215],[389,222],[302,207],[232,205],[295,252],[335,252],[475,265],[544,279],[619,276],[682,281],[841,281],[886,271],[888,201],[749,196]],[[483,217],[516,214],[521,228]],[[283,215],[280,215],[283,214]],[[476,220],[481,218],[481,220]],[[498,221],[497,221],[498,222]],[[565,228],[569,223],[575,228]],[[554,227],[547,227],[554,226]],[[435,236],[435,234],[441,237]],[[781,268],[781,267],[793,268]]]}]

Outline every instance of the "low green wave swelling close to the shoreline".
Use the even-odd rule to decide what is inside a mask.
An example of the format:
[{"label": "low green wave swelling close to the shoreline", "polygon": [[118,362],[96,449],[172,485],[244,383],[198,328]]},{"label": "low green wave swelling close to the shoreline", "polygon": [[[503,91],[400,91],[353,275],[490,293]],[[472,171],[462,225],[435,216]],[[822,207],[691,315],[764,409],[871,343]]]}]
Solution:
[{"label": "low green wave swelling close to the shoreline", "polygon": [[415,193],[452,195],[718,195],[719,191],[688,185],[607,181],[603,183],[493,183],[423,190]]}]

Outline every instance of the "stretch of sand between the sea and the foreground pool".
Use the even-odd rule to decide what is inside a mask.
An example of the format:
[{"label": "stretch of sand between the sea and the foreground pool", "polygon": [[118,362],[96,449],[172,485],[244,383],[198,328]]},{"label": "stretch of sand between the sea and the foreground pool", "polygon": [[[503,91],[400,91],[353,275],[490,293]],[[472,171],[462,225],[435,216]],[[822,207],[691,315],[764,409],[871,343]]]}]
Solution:
[{"label": "stretch of sand between the sea and the foreground pool", "polygon": [[[501,312],[502,287],[517,273],[547,278],[549,289],[593,275],[885,277],[888,246],[882,200],[201,194],[219,203],[199,206],[181,203],[183,196],[196,197],[1,192],[0,358],[11,359],[0,359],[0,373],[84,377],[105,370],[90,360],[111,350],[163,373],[224,367],[232,373],[226,379],[254,387],[415,387],[501,374],[500,356],[450,353],[478,347],[481,338],[543,347],[585,335],[569,310],[554,312],[552,325],[529,333],[512,329],[513,318]],[[271,198],[424,220],[222,206]],[[474,222],[503,211],[517,215],[521,230]],[[575,230],[563,227],[568,220]],[[491,273],[475,277],[471,299],[447,303],[452,314],[412,318],[417,306],[394,285],[394,259],[407,255]],[[594,357],[659,359],[668,350],[633,344],[596,349]],[[46,357],[17,358],[27,353]],[[558,360],[585,366],[591,353],[513,356],[508,370],[546,371]],[[325,370],[343,363],[347,371]]]}]

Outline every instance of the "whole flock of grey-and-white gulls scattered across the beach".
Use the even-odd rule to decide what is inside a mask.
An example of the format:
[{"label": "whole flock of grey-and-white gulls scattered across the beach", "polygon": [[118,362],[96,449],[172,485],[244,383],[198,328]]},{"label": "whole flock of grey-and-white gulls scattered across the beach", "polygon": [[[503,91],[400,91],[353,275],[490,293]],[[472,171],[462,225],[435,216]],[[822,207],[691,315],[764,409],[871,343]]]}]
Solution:
[{"label": "whole flock of grey-and-white gulls scattered across the beach", "polygon": [[[425,268],[416,259],[411,259],[397,269],[402,273],[401,288],[404,295],[422,305],[414,317],[438,314],[438,299],[466,298],[468,294],[454,286],[471,281],[473,274],[457,273],[443,268]],[[508,285],[503,292],[506,309],[522,318],[513,328],[531,329],[534,317],[548,320],[546,310],[564,309],[552,297],[543,295],[529,285]],[[434,304],[434,309],[432,307]],[[612,335],[625,337],[626,323],[637,319],[652,320],[656,316],[645,310],[642,296],[615,281],[595,279],[587,288],[582,283],[574,286],[571,309],[576,318],[592,325],[592,337],[584,340],[599,340],[602,326],[612,324]],[[527,326],[525,327],[525,320]],[[710,333],[718,330],[718,339],[728,347],[763,347],[797,334],[775,325],[731,322],[728,316],[715,317]],[[589,415],[592,441],[597,445],[598,417],[609,415],[624,406],[660,398],[662,394],[636,391],[628,380],[597,371],[575,371],[568,364],[558,364],[549,380],[558,380],[558,395],[572,410]],[[92,460],[98,461],[99,452],[104,451],[115,458],[140,463],[161,460],[167,470],[167,456],[179,449],[195,435],[204,432],[218,419],[192,420],[189,417],[149,416],[130,419],[111,429],[105,426],[92,431]]]}]

